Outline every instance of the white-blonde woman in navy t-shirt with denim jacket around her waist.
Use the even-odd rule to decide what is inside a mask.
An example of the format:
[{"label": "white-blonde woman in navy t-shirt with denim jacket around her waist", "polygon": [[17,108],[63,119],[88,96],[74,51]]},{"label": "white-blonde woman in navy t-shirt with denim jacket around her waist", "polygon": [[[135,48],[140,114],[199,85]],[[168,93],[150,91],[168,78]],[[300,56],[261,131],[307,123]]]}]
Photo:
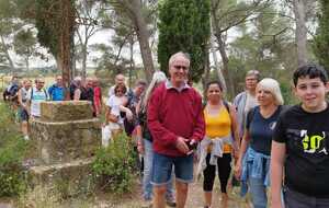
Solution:
[{"label": "white-blonde woman in navy t-shirt with denim jacket around her waist", "polygon": [[284,108],[279,82],[271,78],[261,80],[257,84],[256,99],[259,106],[251,108],[247,115],[235,174],[241,181],[241,196],[247,194],[249,185],[253,207],[265,208],[266,189],[270,186],[272,136],[279,115]]}]

